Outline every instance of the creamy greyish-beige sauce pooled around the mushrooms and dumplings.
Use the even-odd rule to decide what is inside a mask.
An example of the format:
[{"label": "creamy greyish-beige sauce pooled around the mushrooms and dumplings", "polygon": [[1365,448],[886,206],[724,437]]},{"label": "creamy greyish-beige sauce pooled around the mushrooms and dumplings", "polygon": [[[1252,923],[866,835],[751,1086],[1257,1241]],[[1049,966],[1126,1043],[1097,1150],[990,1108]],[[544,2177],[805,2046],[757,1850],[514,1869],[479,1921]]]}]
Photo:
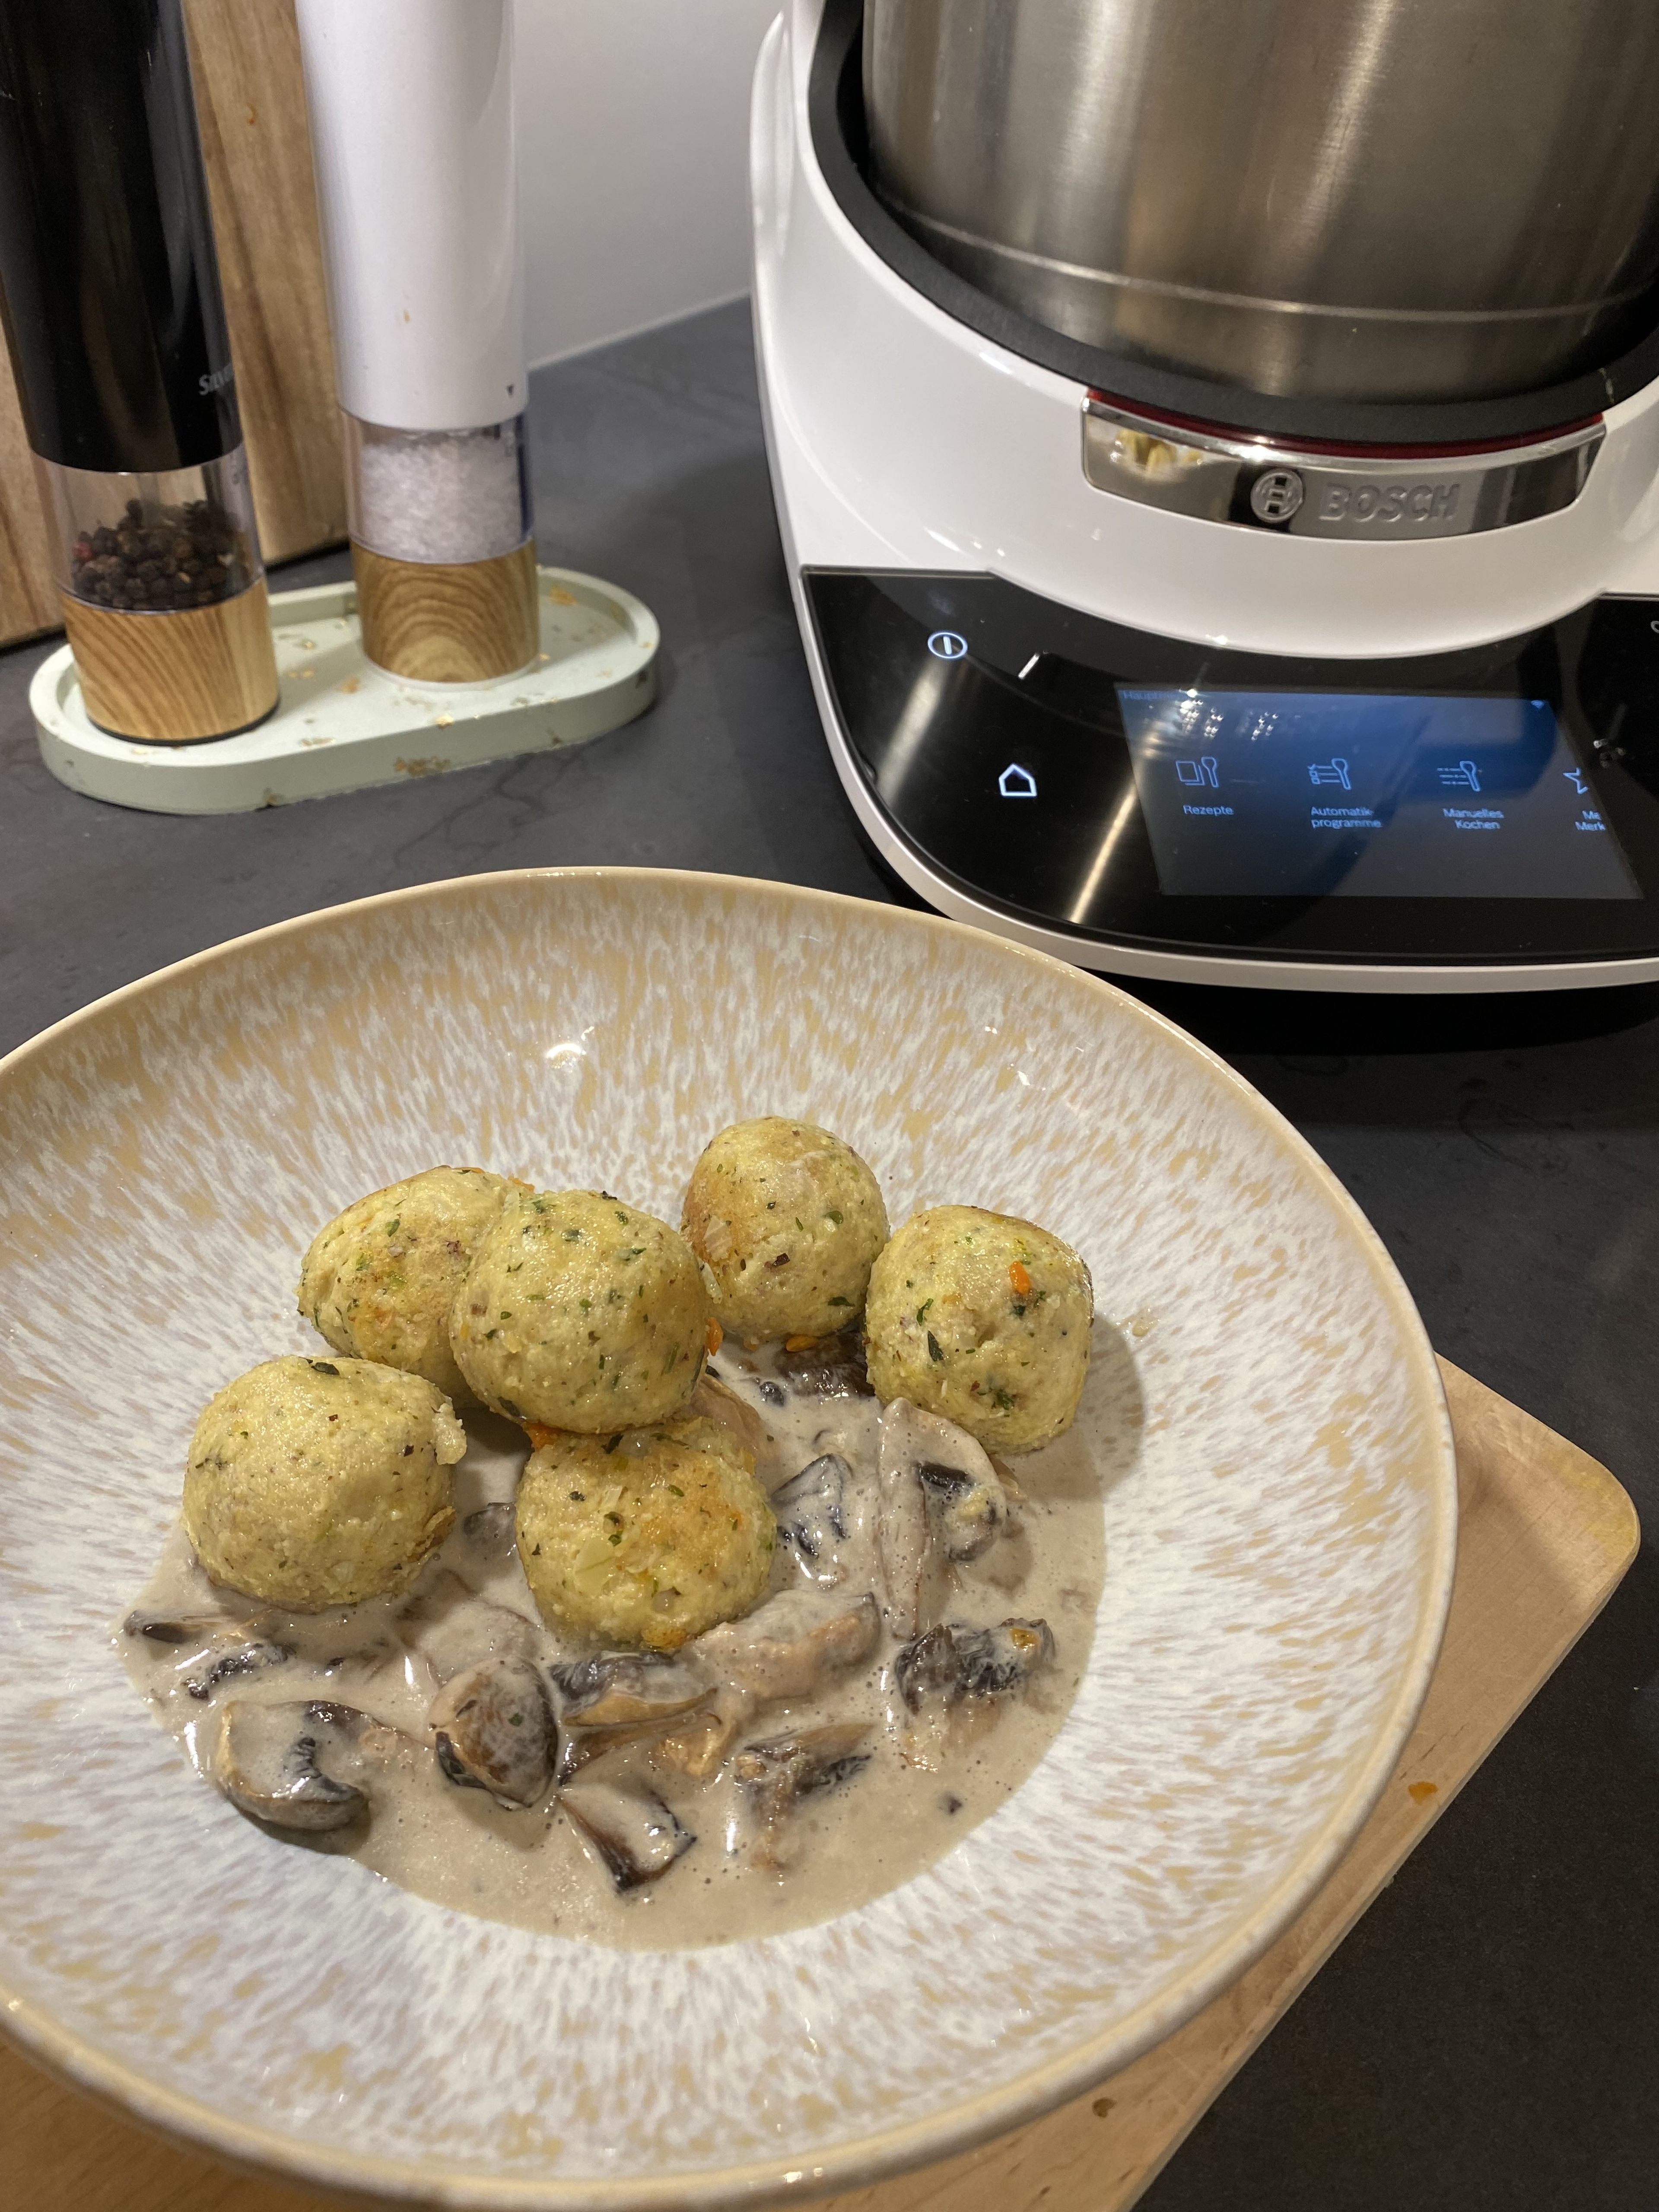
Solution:
[{"label": "creamy greyish-beige sauce pooled around the mushrooms and dumplings", "polygon": [[[852,1389],[803,1387],[799,1376],[781,1376],[774,1354],[728,1347],[714,1371],[765,1425],[757,1473],[774,1500],[825,1453],[838,1453],[849,1469],[841,1513],[847,1537],[834,1542],[836,1559],[823,1551],[810,1559],[783,1535],[763,1604],[807,1590],[814,1595],[805,1610],[830,1617],[858,1606],[865,1593],[880,1599],[878,1402]],[[363,1787],[367,1820],[314,1836],[272,1827],[272,1840],[358,1858],[418,1896],[487,1920],[626,1949],[810,1927],[938,1860],[1020,1787],[1060,1730],[1088,1661],[1106,1568],[1102,1478],[1088,1449],[1091,1400],[1102,1380],[1091,1378],[1068,1436],[1015,1462],[1011,1520],[989,1548],[960,1566],[945,1566],[936,1548],[929,1571],[922,1626],[929,1613],[978,1628],[1009,1619],[1046,1624],[1053,1657],[1044,1655],[1037,1672],[1011,1692],[969,1694],[949,1712],[925,1701],[916,1714],[896,1683],[902,1637],[883,1619],[867,1657],[825,1674],[816,1692],[750,1701],[708,1781],[666,1767],[661,1754],[653,1759],[650,1739],[595,1759],[575,1776],[577,1790],[615,1783],[650,1792],[668,1812],[668,1827],[657,1820],[659,1849],[666,1856],[679,1847],[666,1871],[626,1891],[564,1812],[557,1785],[535,1807],[509,1809],[482,1787],[458,1787],[434,1754],[427,1714],[460,1670],[491,1657],[531,1659],[540,1668],[584,1657],[542,1626],[518,1566],[511,1500],[526,1444],[509,1422],[467,1413],[471,1449],[456,1469],[456,1526],[414,1593],[343,1613],[276,1615],[215,1588],[175,1528],[137,1613],[117,1624],[115,1637],[155,1717],[206,1778],[232,1703],[323,1699],[389,1723],[369,1732],[372,1745],[349,1765],[319,1754],[325,1772]],[[785,1504],[779,1513],[787,1520]],[[929,1526],[938,1535],[936,1517]],[[818,1595],[818,1577],[836,1571],[843,1579],[830,1599],[843,1601],[841,1608]],[[135,1632],[133,1624],[146,1617],[186,1626],[188,1635],[157,1641]],[[874,1628],[869,1604],[865,1624]],[[1020,1648],[1033,1650],[1024,1630]],[[697,1652],[688,1644],[679,1657],[695,1661]],[[757,1763],[745,1767],[748,1790],[737,1778],[743,1747],[834,1723],[847,1723],[847,1739],[856,1723],[867,1734],[845,1759],[821,1761],[825,1778],[776,1827],[759,1823]],[[582,1739],[560,1723],[557,1741],[568,1747]],[[832,1752],[845,1747],[845,1739],[827,1741]],[[672,1823],[695,1840],[684,1845]]]}]

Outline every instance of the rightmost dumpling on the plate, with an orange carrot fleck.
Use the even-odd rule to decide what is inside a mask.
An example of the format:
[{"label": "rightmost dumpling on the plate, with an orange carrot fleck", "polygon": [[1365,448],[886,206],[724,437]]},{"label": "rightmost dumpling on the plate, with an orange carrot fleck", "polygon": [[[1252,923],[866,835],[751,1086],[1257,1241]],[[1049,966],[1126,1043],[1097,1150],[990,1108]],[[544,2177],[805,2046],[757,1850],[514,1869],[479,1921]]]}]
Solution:
[{"label": "rightmost dumpling on the plate, with an orange carrot fleck", "polygon": [[1013,1214],[931,1206],[876,1261],[869,1380],[991,1451],[1064,1436],[1088,1374],[1095,1285],[1071,1245]]}]

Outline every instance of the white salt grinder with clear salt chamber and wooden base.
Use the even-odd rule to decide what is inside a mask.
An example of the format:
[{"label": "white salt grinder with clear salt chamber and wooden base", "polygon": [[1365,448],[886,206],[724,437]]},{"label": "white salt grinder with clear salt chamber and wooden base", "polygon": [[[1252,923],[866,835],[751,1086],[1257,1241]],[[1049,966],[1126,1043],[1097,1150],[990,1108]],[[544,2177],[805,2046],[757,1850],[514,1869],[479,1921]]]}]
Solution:
[{"label": "white salt grinder with clear salt chamber and wooden base", "polygon": [[363,648],[538,653],[511,0],[296,0]]}]

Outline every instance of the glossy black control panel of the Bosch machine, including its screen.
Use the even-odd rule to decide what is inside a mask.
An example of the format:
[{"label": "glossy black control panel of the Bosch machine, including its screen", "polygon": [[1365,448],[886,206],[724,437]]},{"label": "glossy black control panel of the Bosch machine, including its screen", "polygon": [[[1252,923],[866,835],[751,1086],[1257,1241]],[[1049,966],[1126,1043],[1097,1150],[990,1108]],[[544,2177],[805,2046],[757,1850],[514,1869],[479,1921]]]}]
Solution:
[{"label": "glossy black control panel of the Bosch machine, including its screen", "polygon": [[810,571],[805,593],[876,801],[1009,916],[1303,960],[1659,953],[1659,602],[1312,661],[980,575]]}]

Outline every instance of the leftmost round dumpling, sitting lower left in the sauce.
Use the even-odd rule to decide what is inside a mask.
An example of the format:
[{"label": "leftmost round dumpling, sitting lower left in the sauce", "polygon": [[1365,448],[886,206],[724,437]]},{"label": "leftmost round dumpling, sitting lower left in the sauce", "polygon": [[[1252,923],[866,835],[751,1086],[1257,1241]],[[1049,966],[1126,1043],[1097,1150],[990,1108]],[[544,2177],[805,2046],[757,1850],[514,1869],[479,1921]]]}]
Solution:
[{"label": "leftmost round dumpling, sitting lower left in the sauce", "polygon": [[369,1360],[281,1358],[212,1398],[184,1528],[208,1575],[288,1613],[400,1590],[456,1520],[467,1431],[440,1389]]}]

